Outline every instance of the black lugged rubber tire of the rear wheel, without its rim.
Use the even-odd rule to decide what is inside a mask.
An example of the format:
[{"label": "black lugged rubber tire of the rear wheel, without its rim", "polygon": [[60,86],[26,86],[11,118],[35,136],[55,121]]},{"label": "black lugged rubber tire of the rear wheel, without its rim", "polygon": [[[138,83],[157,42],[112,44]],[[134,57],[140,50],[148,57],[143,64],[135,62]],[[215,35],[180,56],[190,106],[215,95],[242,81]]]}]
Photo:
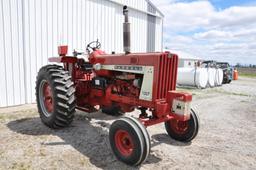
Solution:
[{"label": "black lugged rubber tire of the rear wheel, without its rim", "polygon": [[[52,83],[54,101],[56,102],[54,113],[51,119],[45,118],[41,106],[39,104],[39,87],[42,79],[48,79]],[[67,127],[71,124],[74,118],[76,98],[74,83],[68,71],[58,65],[43,66],[38,73],[36,81],[36,98],[37,107],[44,124],[51,128]]]}]

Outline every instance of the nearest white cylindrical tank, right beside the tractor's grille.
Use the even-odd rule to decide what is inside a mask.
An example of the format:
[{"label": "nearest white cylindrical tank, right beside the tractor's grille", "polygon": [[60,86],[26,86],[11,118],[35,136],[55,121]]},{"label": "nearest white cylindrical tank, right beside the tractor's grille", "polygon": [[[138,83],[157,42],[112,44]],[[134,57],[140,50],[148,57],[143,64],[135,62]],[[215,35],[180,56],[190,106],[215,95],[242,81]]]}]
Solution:
[{"label": "nearest white cylindrical tank, right beside the tractor's grille", "polygon": [[205,88],[208,82],[206,68],[178,68],[177,84]]}]

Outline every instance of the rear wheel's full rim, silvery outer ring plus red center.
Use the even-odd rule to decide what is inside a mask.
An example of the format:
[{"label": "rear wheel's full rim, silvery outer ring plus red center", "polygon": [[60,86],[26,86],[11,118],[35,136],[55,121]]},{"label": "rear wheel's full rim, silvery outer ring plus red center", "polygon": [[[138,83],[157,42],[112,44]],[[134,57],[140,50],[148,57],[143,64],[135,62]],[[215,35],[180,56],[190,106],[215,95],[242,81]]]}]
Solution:
[{"label": "rear wheel's full rim, silvery outer ring plus red center", "polygon": [[46,80],[42,80],[39,86],[39,100],[43,114],[50,117],[53,112],[53,95],[52,89]]}]

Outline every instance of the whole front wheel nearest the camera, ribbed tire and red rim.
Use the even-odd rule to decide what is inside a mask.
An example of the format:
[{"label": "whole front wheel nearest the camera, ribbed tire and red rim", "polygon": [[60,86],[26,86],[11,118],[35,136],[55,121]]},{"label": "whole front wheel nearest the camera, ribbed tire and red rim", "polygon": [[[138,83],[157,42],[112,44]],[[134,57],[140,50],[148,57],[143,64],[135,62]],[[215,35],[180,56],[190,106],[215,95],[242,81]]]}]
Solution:
[{"label": "whole front wheel nearest the camera, ribbed tire and red rim", "polygon": [[116,120],[110,127],[109,141],[117,159],[132,166],[143,163],[150,151],[149,135],[134,118]]}]

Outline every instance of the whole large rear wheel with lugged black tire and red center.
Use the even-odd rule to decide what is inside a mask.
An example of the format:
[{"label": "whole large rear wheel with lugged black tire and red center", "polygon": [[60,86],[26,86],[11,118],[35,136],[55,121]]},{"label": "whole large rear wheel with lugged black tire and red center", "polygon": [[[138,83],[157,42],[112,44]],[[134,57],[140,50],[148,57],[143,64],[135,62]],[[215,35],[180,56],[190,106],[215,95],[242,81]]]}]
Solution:
[{"label": "whole large rear wheel with lugged black tire and red center", "polygon": [[36,81],[37,108],[42,122],[50,128],[71,124],[75,113],[75,88],[68,71],[61,66],[42,67]]}]

